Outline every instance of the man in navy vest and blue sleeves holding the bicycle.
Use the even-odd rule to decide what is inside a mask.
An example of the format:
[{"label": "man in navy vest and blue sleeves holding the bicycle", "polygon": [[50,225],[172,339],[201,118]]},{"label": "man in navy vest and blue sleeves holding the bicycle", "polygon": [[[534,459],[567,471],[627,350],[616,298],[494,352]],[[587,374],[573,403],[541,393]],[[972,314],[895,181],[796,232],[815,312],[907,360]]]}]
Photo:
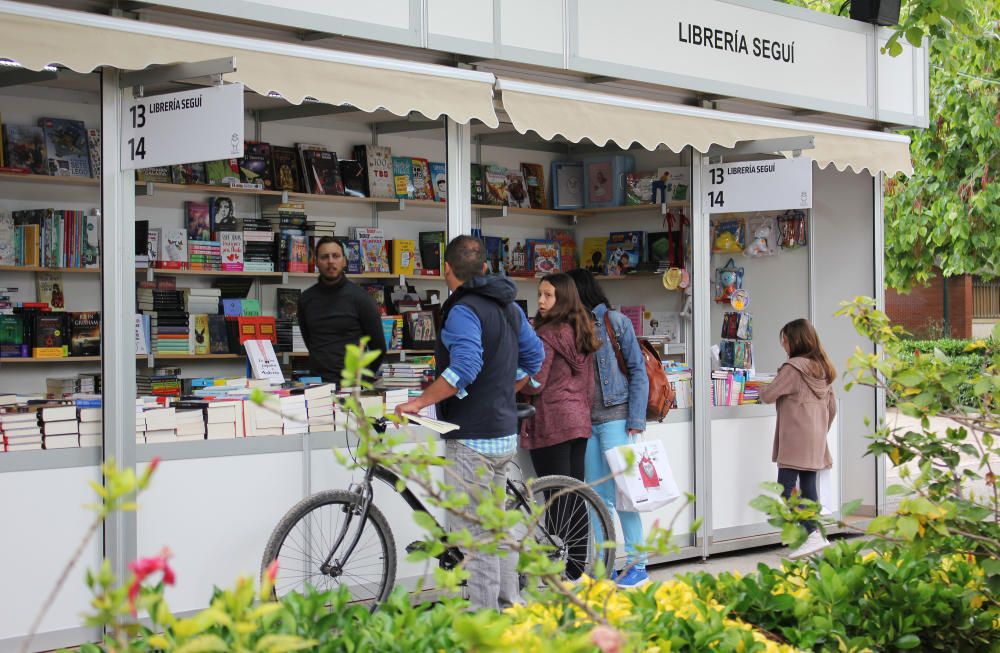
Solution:
[{"label": "man in navy vest and blue sleeves holding the bicycle", "polygon": [[[436,405],[440,419],[459,426],[442,436],[445,457],[471,490],[466,510],[474,514],[481,496],[507,482],[507,464],[517,452],[514,395],[541,368],[545,349],[514,303],[514,282],[485,276],[486,247],[480,240],[456,237],[444,260],[452,294],[442,307],[443,327],[434,352],[438,378],[396,413]],[[455,519],[451,526],[467,528],[474,538],[483,534],[469,520]],[[499,609],[520,602],[517,556],[466,555],[473,605]]]}]

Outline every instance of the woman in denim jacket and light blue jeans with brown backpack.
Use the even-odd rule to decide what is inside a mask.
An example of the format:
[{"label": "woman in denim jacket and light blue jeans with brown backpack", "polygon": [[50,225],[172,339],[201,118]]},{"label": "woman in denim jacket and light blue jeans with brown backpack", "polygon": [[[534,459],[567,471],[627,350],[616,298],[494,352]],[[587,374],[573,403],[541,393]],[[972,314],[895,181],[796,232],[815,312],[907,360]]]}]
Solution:
[{"label": "woman in denim jacket and light blue jeans with brown backpack", "polygon": [[[594,354],[594,393],[590,408],[592,424],[590,440],[584,460],[584,475],[588,483],[608,478],[611,469],[604,452],[623,444],[628,444],[631,436],[646,430],[646,401],[649,396],[649,379],[646,366],[639,350],[639,341],[632,328],[632,321],[610,309],[611,303],[605,297],[594,276],[577,268],[568,273],[576,282],[583,305],[593,314],[594,331],[601,341],[601,348]],[[622,357],[629,375],[626,377],[618,369],[613,343],[608,339],[604,316],[611,320],[611,329],[621,346]],[[608,506],[611,514],[617,512],[625,536],[625,552],[628,555],[626,573],[615,572],[614,578],[621,587],[639,587],[649,582],[646,574],[646,555],[636,551],[645,541],[639,513],[615,510],[615,482],[608,479],[594,486]]]}]

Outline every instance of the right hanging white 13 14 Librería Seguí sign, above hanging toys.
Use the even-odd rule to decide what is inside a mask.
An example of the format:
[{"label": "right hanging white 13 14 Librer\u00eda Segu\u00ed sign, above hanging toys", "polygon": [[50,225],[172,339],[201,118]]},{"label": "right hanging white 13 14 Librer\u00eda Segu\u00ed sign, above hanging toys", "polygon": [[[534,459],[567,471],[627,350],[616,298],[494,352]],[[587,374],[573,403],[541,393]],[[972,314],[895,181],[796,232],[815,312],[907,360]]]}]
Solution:
[{"label": "right hanging white 13 14 Librer\u00eda Segu\u00ed sign, above hanging toys", "polygon": [[702,169],[705,213],[812,208],[812,159],[712,163]]}]

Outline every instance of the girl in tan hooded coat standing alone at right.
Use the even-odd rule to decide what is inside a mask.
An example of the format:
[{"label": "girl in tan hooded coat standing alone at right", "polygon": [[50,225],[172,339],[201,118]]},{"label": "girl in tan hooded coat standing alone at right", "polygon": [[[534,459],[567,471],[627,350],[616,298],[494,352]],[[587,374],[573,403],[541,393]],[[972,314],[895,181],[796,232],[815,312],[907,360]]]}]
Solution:
[{"label": "girl in tan hooded coat standing alone at right", "polygon": [[[833,466],[826,434],[837,415],[832,388],[837,371],[809,320],[792,320],[781,328],[780,338],[788,361],[774,381],[760,391],[761,401],[777,403],[771,460],[778,463],[782,496],[792,496],[797,485],[803,498],[819,503],[816,473]],[[816,530],[815,523],[805,522],[803,526],[809,537],[791,558],[811,555],[830,544]]]}]

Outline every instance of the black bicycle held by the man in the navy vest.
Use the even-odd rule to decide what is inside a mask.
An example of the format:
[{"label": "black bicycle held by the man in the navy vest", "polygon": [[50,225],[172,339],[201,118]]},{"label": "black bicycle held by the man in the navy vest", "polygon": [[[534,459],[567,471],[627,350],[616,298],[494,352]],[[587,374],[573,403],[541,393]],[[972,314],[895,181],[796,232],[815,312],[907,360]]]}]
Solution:
[{"label": "black bicycle held by the man in the navy vest", "polygon": [[[534,407],[518,404],[518,424],[533,414]],[[385,418],[374,420],[379,432],[387,424]],[[431,514],[409,488],[397,488],[400,479],[395,474],[378,465],[366,469],[363,480],[348,490],[325,490],[306,497],[282,517],[264,548],[262,575],[278,561],[276,598],[302,592],[310,585],[319,590],[346,585],[352,601],[368,603],[372,609],[388,598],[396,578],[396,541],[389,522],[374,504],[375,479],[398,492],[414,511]],[[605,570],[613,568],[615,530],[593,488],[568,476],[545,476],[528,483],[508,476],[506,491],[508,509],[530,515],[533,506],[542,507],[534,537],[549,547],[551,559],[565,563],[565,578],[575,580],[583,573],[593,576],[598,562]],[[411,543],[407,552],[421,544]],[[451,547],[437,558],[442,568],[452,569],[462,561],[462,553]]]}]

